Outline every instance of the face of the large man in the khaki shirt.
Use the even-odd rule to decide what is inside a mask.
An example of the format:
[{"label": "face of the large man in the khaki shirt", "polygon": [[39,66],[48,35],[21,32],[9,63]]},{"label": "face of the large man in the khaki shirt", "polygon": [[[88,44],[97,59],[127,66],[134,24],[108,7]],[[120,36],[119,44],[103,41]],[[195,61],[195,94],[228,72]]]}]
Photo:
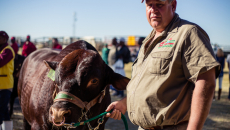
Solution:
[{"label": "face of the large man in the khaki shirt", "polygon": [[146,0],[146,16],[149,24],[159,32],[164,31],[166,26],[173,19],[176,10],[176,0],[171,3],[166,0]]}]

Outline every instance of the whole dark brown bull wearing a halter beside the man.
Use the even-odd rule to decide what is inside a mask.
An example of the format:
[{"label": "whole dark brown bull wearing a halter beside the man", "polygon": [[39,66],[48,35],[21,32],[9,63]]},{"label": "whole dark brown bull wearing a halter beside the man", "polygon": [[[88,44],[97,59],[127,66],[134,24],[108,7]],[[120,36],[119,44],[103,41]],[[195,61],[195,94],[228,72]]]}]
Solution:
[{"label": "whole dark brown bull wearing a halter beside the man", "polygon": [[[54,81],[47,76],[50,70],[55,70]],[[72,43],[60,53],[50,49],[35,51],[24,61],[18,83],[24,127],[66,129],[63,125],[90,119],[110,104],[109,84],[124,90],[128,82],[128,78],[114,73],[85,41]],[[107,118],[104,120],[100,130]],[[94,120],[73,129],[97,126],[98,121]]]}]

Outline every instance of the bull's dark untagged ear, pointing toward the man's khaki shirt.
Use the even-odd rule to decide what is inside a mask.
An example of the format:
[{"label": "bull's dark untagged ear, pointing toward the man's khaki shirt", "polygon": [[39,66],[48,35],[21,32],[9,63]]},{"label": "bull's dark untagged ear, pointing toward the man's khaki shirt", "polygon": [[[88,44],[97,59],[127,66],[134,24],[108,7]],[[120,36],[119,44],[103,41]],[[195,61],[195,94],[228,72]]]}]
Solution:
[{"label": "bull's dark untagged ear, pointing toward the man's khaki shirt", "polygon": [[127,77],[124,77],[118,73],[115,73],[109,66],[107,66],[107,72],[108,72],[108,80],[109,83],[113,85],[114,88],[117,90],[125,90],[126,86],[128,85],[130,79]]}]

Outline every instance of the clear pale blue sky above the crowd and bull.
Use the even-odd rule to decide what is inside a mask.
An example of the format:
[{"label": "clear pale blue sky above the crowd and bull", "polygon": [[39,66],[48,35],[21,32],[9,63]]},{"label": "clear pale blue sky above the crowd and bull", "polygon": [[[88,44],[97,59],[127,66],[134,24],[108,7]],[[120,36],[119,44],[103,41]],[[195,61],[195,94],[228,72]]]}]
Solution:
[{"label": "clear pale blue sky above the crowd and bull", "polygon": [[[177,0],[176,12],[200,25],[212,43],[228,45],[230,0]],[[0,0],[0,30],[10,36],[147,36],[141,0]]]}]

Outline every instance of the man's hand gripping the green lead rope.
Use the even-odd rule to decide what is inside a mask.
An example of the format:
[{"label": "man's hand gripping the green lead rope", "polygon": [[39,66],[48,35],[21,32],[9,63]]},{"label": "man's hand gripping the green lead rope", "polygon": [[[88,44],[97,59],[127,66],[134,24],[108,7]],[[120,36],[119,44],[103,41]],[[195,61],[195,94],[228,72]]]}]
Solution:
[{"label": "man's hand gripping the green lead rope", "polygon": [[115,120],[121,119],[121,113],[125,114],[127,110],[127,104],[126,104],[126,97],[121,99],[120,101],[112,102],[106,109],[106,111],[110,111],[113,109],[113,112],[107,113],[106,117],[113,118]]}]

